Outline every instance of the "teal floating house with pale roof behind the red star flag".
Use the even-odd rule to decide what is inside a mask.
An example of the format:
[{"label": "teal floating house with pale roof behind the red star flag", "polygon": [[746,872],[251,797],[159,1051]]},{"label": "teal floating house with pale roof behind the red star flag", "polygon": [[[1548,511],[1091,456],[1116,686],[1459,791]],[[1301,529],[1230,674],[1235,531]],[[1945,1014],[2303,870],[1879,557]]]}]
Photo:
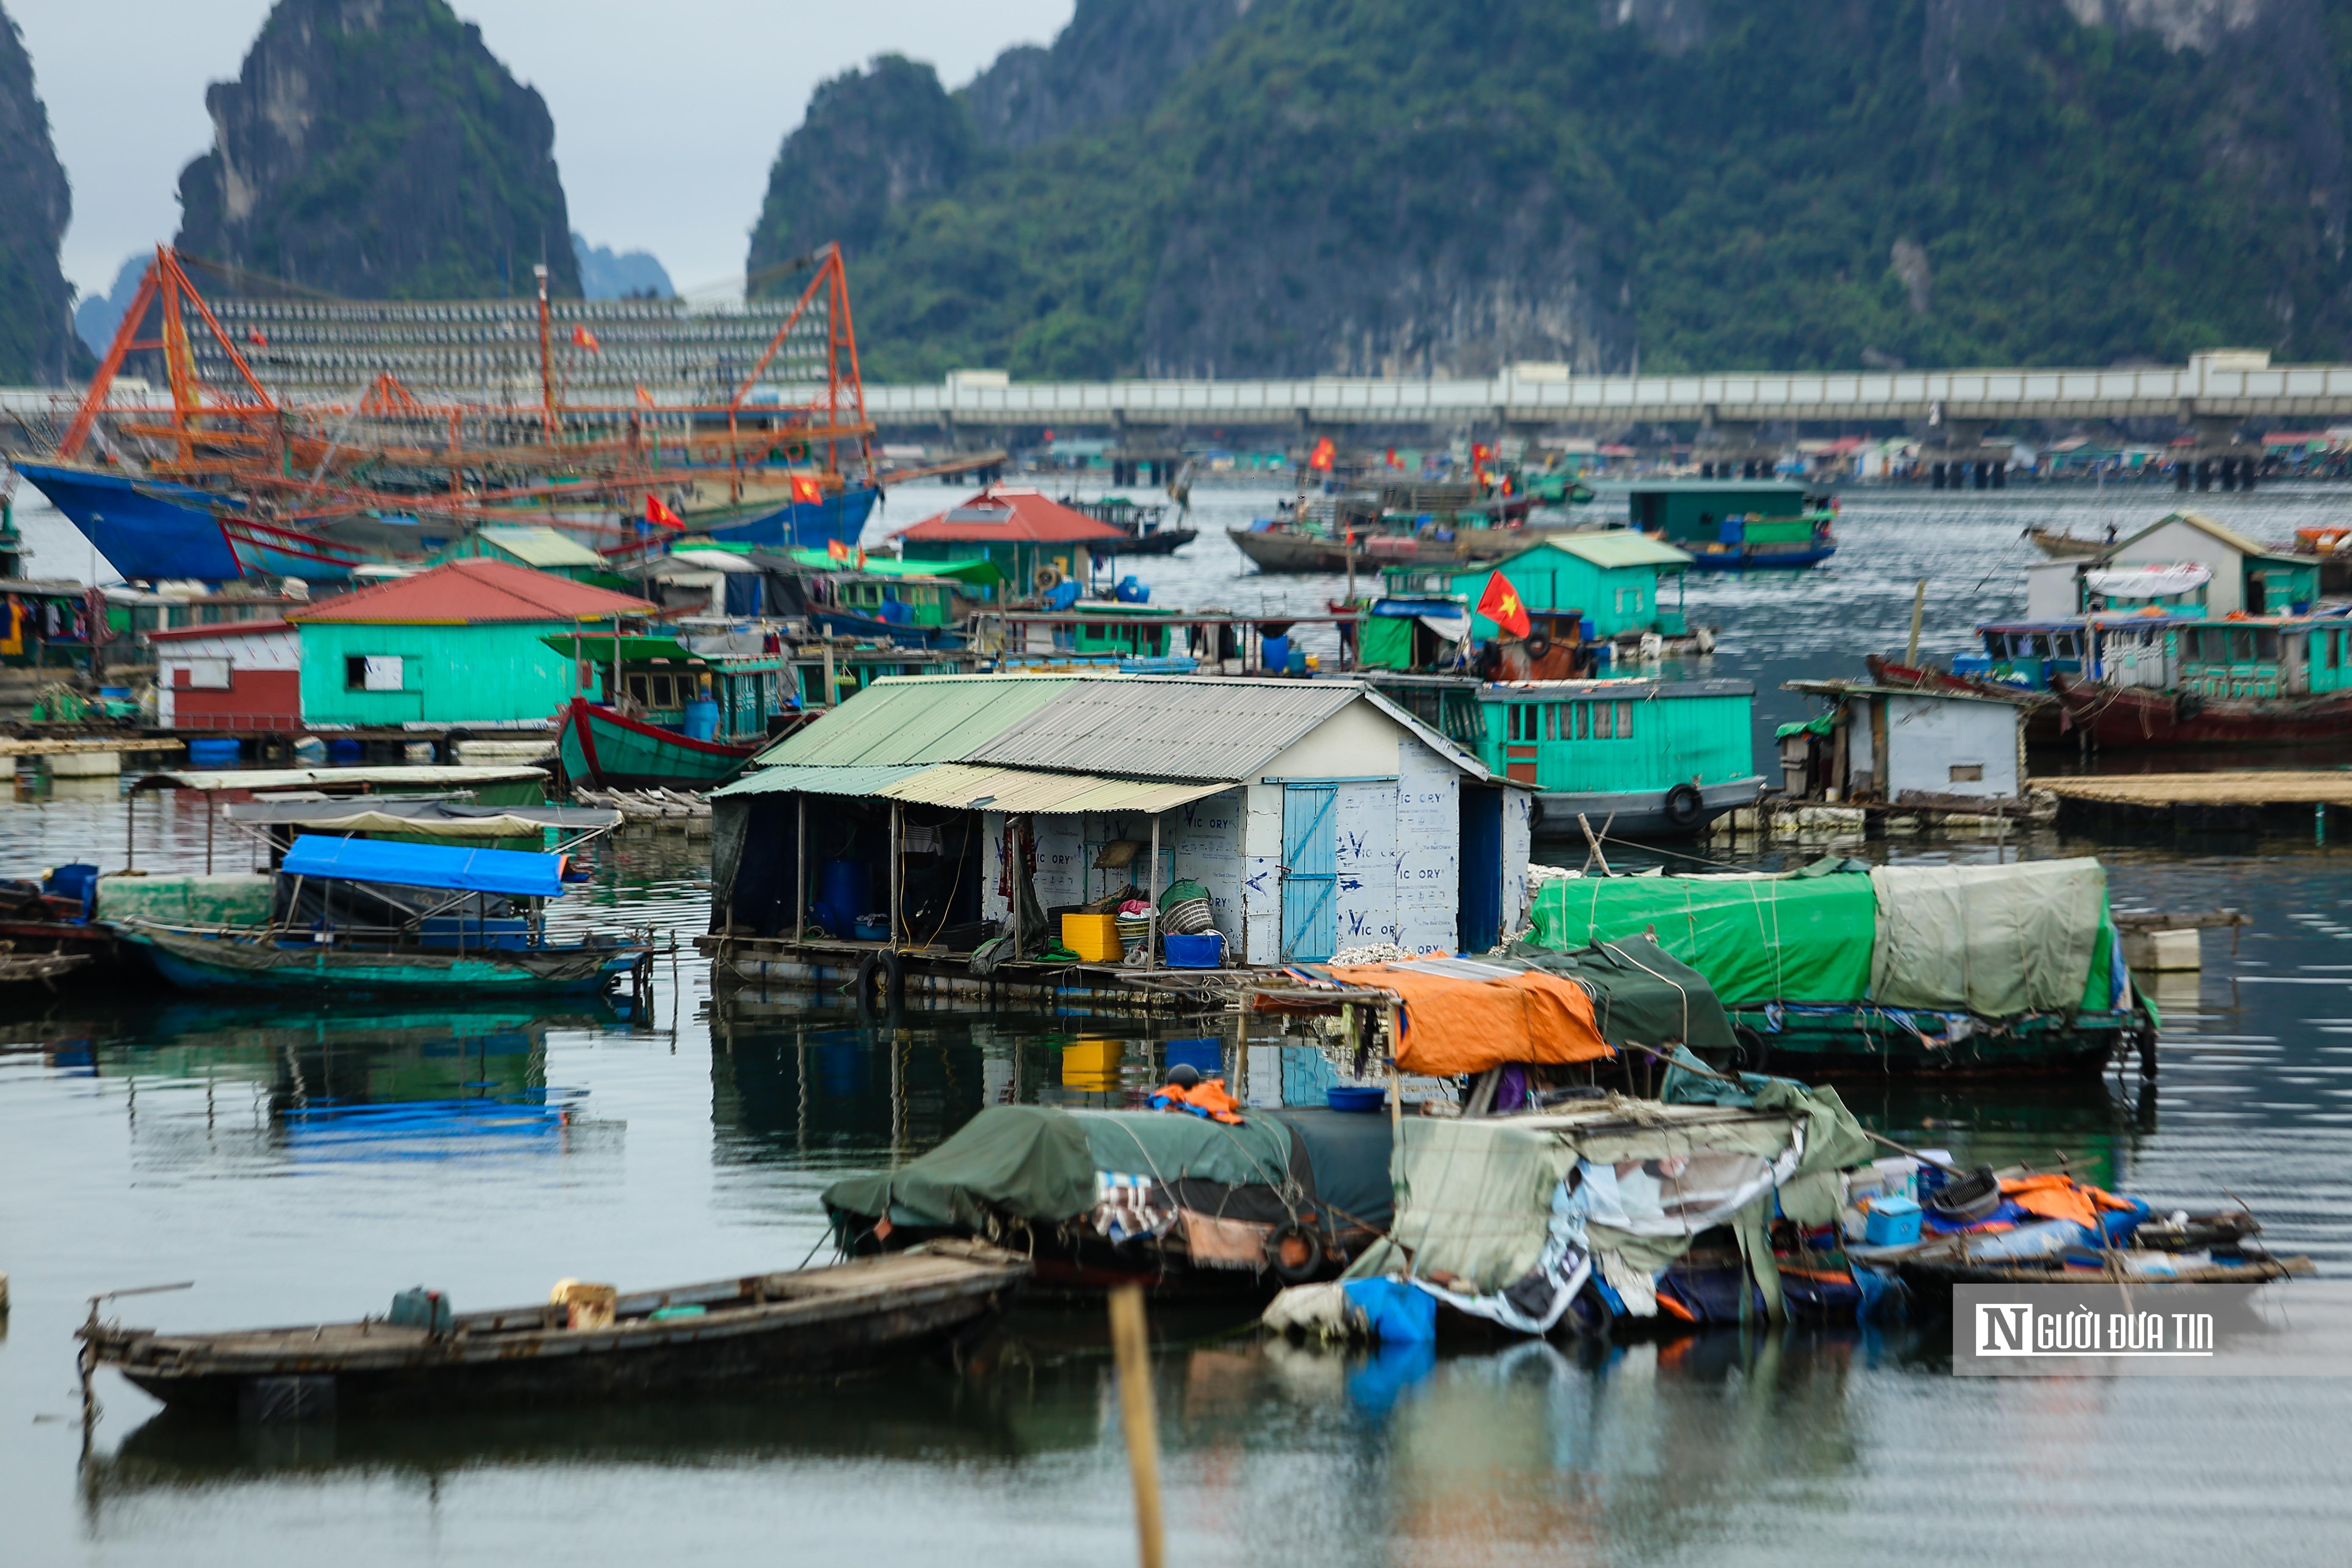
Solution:
[{"label": "teal floating house with pale roof behind the red star flag", "polygon": [[[1383,585],[1397,599],[1456,599],[1470,607],[1475,639],[1498,632],[1494,621],[1477,614],[1486,581],[1496,574],[1517,590],[1531,616],[1583,616],[1592,623],[1595,639],[1642,632],[1679,637],[1684,632],[1682,574],[1689,564],[1691,557],[1675,545],[1630,529],[1609,529],[1559,534],[1491,567],[1390,567],[1383,574]],[[1672,604],[1665,602],[1668,597]],[[1409,658],[1409,646],[1371,646],[1381,621],[1374,618],[1364,628],[1364,661],[1385,663],[1385,654]],[[1409,642],[1414,625],[1421,625],[1395,616],[1385,621],[1395,621],[1395,630],[1381,630],[1390,642]]]}]

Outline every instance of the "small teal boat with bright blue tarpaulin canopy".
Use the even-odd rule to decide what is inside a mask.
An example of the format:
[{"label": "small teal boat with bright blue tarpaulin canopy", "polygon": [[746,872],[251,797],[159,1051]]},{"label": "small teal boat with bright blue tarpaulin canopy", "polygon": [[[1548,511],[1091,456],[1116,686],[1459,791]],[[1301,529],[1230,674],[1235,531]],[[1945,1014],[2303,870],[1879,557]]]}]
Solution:
[{"label": "small teal boat with bright blue tarpaulin canopy", "polygon": [[[169,893],[141,882],[148,907]],[[602,992],[652,961],[642,940],[550,940],[562,853],[299,835],[275,875],[183,882],[242,919],[111,922],[183,990]]]}]

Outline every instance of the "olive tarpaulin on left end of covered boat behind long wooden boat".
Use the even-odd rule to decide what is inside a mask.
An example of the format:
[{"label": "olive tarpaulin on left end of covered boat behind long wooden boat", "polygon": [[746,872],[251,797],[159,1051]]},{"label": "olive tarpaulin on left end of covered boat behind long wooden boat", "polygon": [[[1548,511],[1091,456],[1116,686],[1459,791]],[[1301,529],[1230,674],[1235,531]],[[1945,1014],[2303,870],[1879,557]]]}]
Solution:
[{"label": "olive tarpaulin on left end of covered boat behind long wooden boat", "polygon": [[990,1215],[1068,1220],[1094,1208],[1094,1147],[1068,1112],[993,1105],[955,1138],[896,1171],[849,1175],[826,1187],[840,1215],[889,1215],[898,1225],[988,1232]]}]

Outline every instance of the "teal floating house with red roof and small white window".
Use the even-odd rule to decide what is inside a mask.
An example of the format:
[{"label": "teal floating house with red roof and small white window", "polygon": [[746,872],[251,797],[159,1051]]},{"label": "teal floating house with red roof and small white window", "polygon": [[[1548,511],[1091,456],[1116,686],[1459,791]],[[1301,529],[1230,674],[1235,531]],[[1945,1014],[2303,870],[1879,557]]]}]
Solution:
[{"label": "teal floating house with red roof and small white window", "polygon": [[654,607],[494,559],[456,559],[287,616],[310,729],[548,722],[581,672],[546,644]]}]

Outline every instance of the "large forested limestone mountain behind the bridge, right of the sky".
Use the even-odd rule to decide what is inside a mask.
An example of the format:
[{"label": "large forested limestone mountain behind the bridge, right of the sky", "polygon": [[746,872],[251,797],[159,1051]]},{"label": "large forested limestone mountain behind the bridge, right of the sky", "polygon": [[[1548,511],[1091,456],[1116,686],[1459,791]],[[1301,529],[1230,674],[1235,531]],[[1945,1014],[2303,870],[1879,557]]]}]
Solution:
[{"label": "large forested limestone mountain behind the bridge, right of the sky", "polygon": [[757,233],[844,237],[877,376],[2333,360],[2347,9],[1261,0],[1021,150],[924,68],[842,78]]}]

